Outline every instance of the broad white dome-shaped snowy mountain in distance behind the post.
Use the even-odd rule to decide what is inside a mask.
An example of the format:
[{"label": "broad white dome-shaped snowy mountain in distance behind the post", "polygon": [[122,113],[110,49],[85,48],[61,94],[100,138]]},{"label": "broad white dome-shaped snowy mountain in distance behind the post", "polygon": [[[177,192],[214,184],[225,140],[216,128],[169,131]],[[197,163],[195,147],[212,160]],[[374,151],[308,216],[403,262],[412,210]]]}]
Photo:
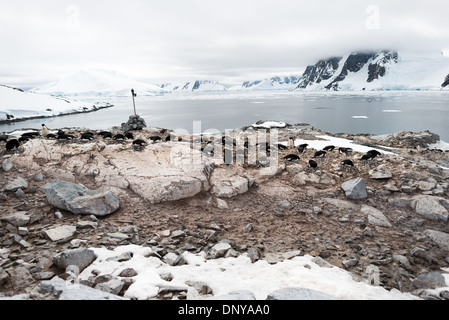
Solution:
[{"label": "broad white dome-shaped snowy mountain in distance behind the post", "polygon": [[36,93],[55,96],[131,96],[131,89],[140,95],[164,93],[160,87],[130,79],[115,71],[89,69],[62,79],[31,89]]}]

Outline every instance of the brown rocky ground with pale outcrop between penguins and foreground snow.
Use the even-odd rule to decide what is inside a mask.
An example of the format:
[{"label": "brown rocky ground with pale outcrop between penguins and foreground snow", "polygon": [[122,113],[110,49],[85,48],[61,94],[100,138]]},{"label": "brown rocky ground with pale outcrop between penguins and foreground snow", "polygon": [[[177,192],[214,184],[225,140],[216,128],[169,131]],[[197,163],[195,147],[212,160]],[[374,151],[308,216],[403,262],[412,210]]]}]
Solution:
[{"label": "brown rocky ground with pale outcrop between penguins and foreground snow", "polygon": [[[248,154],[239,146],[245,137],[252,141],[250,129],[230,134],[237,141],[234,153]],[[332,136],[301,126],[266,132],[267,141],[276,138],[285,146],[294,137],[296,147]],[[271,147],[270,156],[276,159],[271,166],[260,154],[254,162],[250,155],[244,163],[226,164],[199,151],[207,142],[221,141],[221,136],[201,142],[198,137],[146,128],[122,141],[103,139],[98,132],[92,140],[79,139],[80,130],[66,133],[75,139],[38,137],[13,151],[0,142],[4,296],[33,292],[42,280],[56,275],[67,277],[54,257],[69,249],[132,243],[151,247],[161,258],[185,251],[205,251],[218,258],[211,248],[225,242],[230,245],[223,253],[227,256],[249,254],[254,261],[276,263],[285,258],[282,253],[308,254],[361,280],[375,267],[380,271],[377,285],[427,299],[448,299],[447,291],[426,291],[447,286],[442,274],[449,267],[449,154],[427,148],[438,141],[431,133],[334,135],[383,154],[360,160],[364,152],[353,148],[345,154],[336,146],[315,159],[318,168],[309,166],[317,151],[310,146],[303,153],[296,147]],[[171,141],[166,141],[170,134]],[[152,143],[154,136],[162,140]],[[148,144],[133,145],[137,138]],[[300,160],[283,160],[289,154]],[[342,165],[344,159],[355,166]],[[104,194],[99,199],[112,202],[87,205],[106,208],[100,213],[58,208],[44,188],[56,180],[107,190],[117,197],[118,209]],[[106,280],[86,284],[94,287],[102,281]]]}]

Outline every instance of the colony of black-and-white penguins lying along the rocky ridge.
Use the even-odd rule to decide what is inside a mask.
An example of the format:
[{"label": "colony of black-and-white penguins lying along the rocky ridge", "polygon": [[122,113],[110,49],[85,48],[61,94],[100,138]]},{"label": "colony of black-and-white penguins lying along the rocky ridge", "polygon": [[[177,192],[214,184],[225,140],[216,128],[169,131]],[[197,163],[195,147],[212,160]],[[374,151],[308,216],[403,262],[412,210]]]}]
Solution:
[{"label": "colony of black-and-white penguins lying along the rocky ridge", "polygon": [[[111,131],[100,131],[100,132],[82,132],[69,134],[64,130],[50,131],[46,127],[45,124],[42,125],[42,129],[39,131],[30,131],[21,135],[21,137],[8,137],[5,135],[0,135],[0,146],[2,143],[5,143],[5,149],[7,152],[14,152],[19,149],[21,145],[27,143],[31,139],[42,138],[47,140],[56,140],[58,143],[86,143],[93,142],[98,140],[103,140],[109,144],[116,143],[129,143],[131,142],[132,147],[135,151],[142,150],[149,144],[160,143],[160,142],[170,142],[170,141],[185,141],[182,137],[176,137],[170,133],[166,129],[161,129],[156,135],[149,136],[147,138],[143,138],[141,136],[136,137],[133,132],[111,132]],[[154,134],[154,133],[153,133]],[[205,137],[201,136],[199,138],[191,138],[189,141],[192,145],[192,148],[195,148],[194,144],[197,146],[201,146],[201,151],[204,156],[213,157],[215,151],[218,147],[222,148],[223,161],[226,165],[231,165],[235,163],[234,161],[237,159],[243,159],[243,163],[247,163],[248,154],[250,150],[257,151],[257,164],[265,165],[269,163],[267,156],[270,155],[273,149],[276,149],[280,154],[280,159],[284,161],[286,164],[294,163],[301,160],[301,156],[304,156],[308,153],[309,145],[301,144],[295,147],[294,137],[290,137],[288,140],[288,146],[282,143],[276,143],[271,145],[268,142],[259,142],[254,145],[251,145],[248,138],[245,139],[243,143],[243,148],[238,148],[236,140],[228,137],[222,136],[220,138],[213,137]],[[296,149],[296,152],[292,151]],[[323,148],[323,150],[315,150],[313,156],[309,156],[310,159],[307,159],[306,163],[308,167],[312,169],[318,169],[320,167],[320,163],[326,161],[325,159],[330,155],[330,153],[338,153],[339,155],[350,156],[353,150],[351,148],[343,148],[336,146],[327,146]],[[285,155],[285,153],[287,153]],[[370,150],[366,154],[364,154],[359,161],[367,162],[375,159],[376,157],[381,156],[381,153],[377,150]],[[237,162],[237,161],[236,161]],[[242,163],[242,162],[239,162]],[[340,164],[344,167],[354,167],[355,164],[351,159],[342,159]]]}]

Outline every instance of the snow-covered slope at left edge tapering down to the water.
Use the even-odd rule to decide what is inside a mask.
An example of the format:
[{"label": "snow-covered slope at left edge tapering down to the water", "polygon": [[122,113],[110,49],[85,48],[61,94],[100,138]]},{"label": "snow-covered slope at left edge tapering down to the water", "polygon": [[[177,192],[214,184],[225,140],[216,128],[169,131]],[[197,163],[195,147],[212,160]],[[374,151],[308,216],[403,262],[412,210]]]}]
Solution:
[{"label": "snow-covered slope at left edge tapering down to the water", "polygon": [[111,106],[108,103],[93,104],[24,92],[0,85],[0,122],[89,112]]}]

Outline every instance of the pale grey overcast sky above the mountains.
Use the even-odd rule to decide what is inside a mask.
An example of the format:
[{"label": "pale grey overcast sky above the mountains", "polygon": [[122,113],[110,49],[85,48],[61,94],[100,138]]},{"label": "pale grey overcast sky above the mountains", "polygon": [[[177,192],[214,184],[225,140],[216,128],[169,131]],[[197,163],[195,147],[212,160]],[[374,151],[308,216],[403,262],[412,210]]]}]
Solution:
[{"label": "pale grey overcast sky above the mountains", "polygon": [[449,1],[2,0],[0,39],[2,84],[85,68],[236,83],[359,49],[449,48]]}]

